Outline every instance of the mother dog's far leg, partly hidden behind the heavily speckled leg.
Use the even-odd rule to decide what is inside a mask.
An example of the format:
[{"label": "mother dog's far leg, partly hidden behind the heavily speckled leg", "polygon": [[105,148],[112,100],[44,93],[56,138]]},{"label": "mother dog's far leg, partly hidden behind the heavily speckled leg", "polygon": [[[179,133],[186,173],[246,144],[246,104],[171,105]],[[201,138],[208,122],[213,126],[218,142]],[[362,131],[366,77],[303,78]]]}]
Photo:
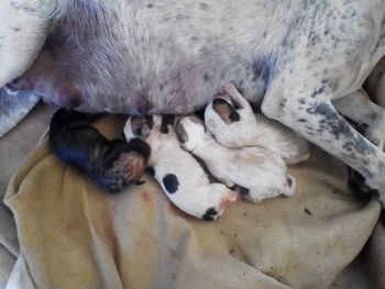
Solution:
[{"label": "mother dog's far leg, partly hidden behind the heavily speckled leg", "polygon": [[372,102],[364,91],[358,90],[332,102],[343,115],[358,124],[366,124],[364,136],[381,149],[385,143],[385,110]]}]

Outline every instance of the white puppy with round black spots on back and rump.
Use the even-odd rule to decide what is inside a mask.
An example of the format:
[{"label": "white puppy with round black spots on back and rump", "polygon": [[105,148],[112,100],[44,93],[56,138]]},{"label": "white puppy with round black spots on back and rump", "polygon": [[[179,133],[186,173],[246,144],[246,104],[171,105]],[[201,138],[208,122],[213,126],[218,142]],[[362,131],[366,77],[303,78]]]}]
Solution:
[{"label": "white puppy with round black spots on back and rump", "polygon": [[162,129],[162,118],[130,116],[127,140],[142,137],[151,146],[148,165],[169,200],[179,209],[206,221],[217,220],[237,193],[223,184],[210,184],[199,163],[180,147],[172,125]]}]

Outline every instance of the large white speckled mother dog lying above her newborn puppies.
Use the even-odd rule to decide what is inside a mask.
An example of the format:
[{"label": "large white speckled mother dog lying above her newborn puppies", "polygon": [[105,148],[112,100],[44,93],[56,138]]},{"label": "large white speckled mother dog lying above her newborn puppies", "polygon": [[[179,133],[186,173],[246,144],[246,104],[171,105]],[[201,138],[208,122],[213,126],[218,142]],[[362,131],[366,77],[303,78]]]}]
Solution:
[{"label": "large white speckled mother dog lying above her newborn puppies", "polygon": [[343,113],[383,130],[383,111],[360,115],[371,103],[355,91],[384,54],[383,0],[0,3],[8,91],[34,90],[85,112],[185,113],[233,81],[265,115],[361,173],[383,200],[385,154],[336,108],[351,98],[359,104]]}]

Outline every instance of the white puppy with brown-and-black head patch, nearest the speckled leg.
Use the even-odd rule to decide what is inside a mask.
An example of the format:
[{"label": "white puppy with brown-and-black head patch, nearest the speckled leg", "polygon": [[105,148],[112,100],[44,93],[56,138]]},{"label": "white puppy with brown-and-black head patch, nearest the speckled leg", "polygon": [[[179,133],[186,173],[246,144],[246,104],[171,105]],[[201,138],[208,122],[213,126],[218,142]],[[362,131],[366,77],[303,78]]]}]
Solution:
[{"label": "white puppy with brown-and-black head patch, nearest the speckled leg", "polygon": [[232,148],[263,146],[280,155],[287,165],[309,157],[304,138],[262,113],[254,113],[233,84],[223,88],[228,95],[217,95],[205,111],[205,124],[220,144]]}]

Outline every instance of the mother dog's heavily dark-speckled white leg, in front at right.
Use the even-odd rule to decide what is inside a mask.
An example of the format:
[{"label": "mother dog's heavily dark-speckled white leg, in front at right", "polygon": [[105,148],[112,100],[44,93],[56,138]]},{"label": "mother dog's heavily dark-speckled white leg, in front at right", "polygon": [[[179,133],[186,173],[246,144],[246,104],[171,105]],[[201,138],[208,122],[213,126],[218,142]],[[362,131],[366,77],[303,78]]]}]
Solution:
[{"label": "mother dog's heavily dark-speckled white leg, in front at right", "polygon": [[337,112],[324,90],[312,97],[315,91],[296,89],[265,97],[262,111],[358,170],[370,187],[380,189],[384,201],[385,154]]}]

